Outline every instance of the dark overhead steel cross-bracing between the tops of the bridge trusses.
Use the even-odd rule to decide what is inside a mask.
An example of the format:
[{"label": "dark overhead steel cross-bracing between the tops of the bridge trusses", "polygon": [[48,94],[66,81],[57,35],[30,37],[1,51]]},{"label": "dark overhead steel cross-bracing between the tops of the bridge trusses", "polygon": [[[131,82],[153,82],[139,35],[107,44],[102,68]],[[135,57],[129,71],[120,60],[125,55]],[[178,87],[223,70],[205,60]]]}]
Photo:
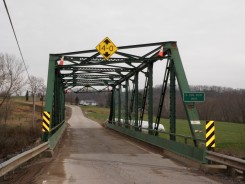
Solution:
[{"label": "dark overhead steel cross-bracing between the tops of the bridge trusses", "polygon": [[[103,76],[101,76],[101,78],[109,76],[109,79],[112,81],[114,81],[113,80],[114,78],[120,78],[121,80],[119,81],[119,83],[121,83],[122,81],[129,79],[132,75],[134,75],[135,72],[141,71],[143,68],[145,68],[146,65],[144,63],[155,62],[157,59],[151,56],[152,54],[155,54],[159,50],[161,44],[164,43],[167,42],[118,47],[118,51],[116,52],[116,54],[121,57],[115,57],[115,58],[112,57],[109,60],[105,60],[104,58],[99,57],[97,50],[60,53],[60,54],[53,54],[53,56],[57,56],[60,58],[62,58],[63,56],[64,61],[67,62],[67,64],[65,65],[58,65],[58,64],[56,65],[56,68],[61,71],[61,76],[63,79],[62,81],[66,88],[72,87],[72,85],[68,85],[67,79],[73,80],[74,84],[78,84],[79,83],[78,80],[80,77],[82,77],[82,75],[84,78],[88,78],[88,79],[95,79],[95,78],[100,79],[99,75],[104,74]],[[133,55],[121,51],[124,49],[125,50],[136,49],[136,48],[145,48],[145,47],[153,47],[153,46],[155,47],[158,46],[158,47],[154,48],[150,52],[147,52],[143,56]],[[92,55],[89,57],[76,56],[76,55],[83,55],[83,54],[92,54]],[[80,83],[80,85],[82,84],[85,83]],[[88,84],[86,83],[86,85]],[[97,84],[94,85],[94,83],[90,83],[89,85],[97,86]],[[118,85],[118,83],[117,84],[109,83],[107,85],[115,86]]]}]

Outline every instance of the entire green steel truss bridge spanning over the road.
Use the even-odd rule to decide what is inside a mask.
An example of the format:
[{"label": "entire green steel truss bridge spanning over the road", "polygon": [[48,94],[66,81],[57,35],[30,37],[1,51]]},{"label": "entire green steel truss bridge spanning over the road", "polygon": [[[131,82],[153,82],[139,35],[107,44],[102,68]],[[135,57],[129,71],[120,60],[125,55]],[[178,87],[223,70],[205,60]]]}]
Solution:
[{"label": "entire green steel truss bridge spanning over the road", "polygon": [[[163,53],[159,54],[161,51]],[[60,60],[64,60],[63,65],[60,64]],[[162,68],[164,75],[161,79],[160,100],[154,102],[153,66],[156,62],[164,62],[165,67]],[[139,75],[143,75],[145,81],[141,96],[139,96]],[[51,137],[57,138],[64,128],[67,91],[108,92],[111,96],[108,128],[205,162],[204,134],[194,102],[183,102],[191,136],[176,134],[176,128],[181,129],[176,127],[177,83],[181,94],[190,92],[178,47],[174,41],[120,46],[108,60],[101,57],[96,49],[50,54],[45,104],[45,111],[50,114],[50,131],[43,133],[43,141]],[[169,138],[166,139],[160,136],[158,128],[168,85],[170,129],[163,132],[168,134]],[[129,90],[130,86],[132,90]],[[154,117],[153,104],[156,103],[158,109]],[[144,116],[148,118],[149,123],[147,133],[142,132]],[[177,138],[184,141],[177,141]]]}]

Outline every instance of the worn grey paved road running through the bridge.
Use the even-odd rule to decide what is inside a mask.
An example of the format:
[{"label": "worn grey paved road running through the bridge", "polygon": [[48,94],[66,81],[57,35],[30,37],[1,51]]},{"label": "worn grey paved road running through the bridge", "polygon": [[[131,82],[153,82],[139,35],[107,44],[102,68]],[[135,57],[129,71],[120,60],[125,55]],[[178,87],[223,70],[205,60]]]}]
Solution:
[{"label": "worn grey paved road running through the bridge", "polygon": [[58,155],[35,177],[42,184],[217,183],[102,128],[72,106]]}]

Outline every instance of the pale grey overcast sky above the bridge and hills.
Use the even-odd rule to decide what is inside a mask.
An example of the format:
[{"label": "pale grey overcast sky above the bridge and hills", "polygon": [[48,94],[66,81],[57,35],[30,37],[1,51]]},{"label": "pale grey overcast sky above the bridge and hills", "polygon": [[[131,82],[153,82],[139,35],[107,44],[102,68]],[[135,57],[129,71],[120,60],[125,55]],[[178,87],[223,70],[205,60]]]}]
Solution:
[{"label": "pale grey overcast sky above the bridge and hills", "polygon": [[[245,89],[244,0],[6,3],[31,75],[46,80],[50,53],[94,49],[108,36],[117,46],[177,41],[189,84]],[[3,1],[0,52],[20,58]]]}]

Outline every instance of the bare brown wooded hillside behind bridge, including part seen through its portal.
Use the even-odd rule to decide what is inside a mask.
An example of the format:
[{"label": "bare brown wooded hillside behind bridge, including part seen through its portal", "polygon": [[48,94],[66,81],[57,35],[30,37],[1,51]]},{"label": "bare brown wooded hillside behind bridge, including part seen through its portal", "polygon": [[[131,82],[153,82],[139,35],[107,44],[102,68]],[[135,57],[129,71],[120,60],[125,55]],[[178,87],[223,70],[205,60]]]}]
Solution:
[{"label": "bare brown wooded hillside behind bridge, including part seen through its portal", "polygon": [[[161,85],[153,88],[153,113],[156,115],[158,110],[158,102],[161,94]],[[234,123],[245,123],[245,90],[232,89],[220,86],[190,86],[191,91],[204,92],[205,102],[195,103],[199,117],[201,120],[226,121]],[[121,94],[124,101],[124,93]],[[139,98],[143,97],[143,91],[139,90]],[[95,100],[100,106],[110,106],[110,93],[70,93],[66,95],[66,100],[75,104],[79,100]],[[130,99],[130,98],[129,98]],[[139,106],[141,104],[139,99]],[[123,108],[123,107],[122,107]],[[147,112],[146,102],[146,112]],[[170,100],[169,87],[166,90],[166,95],[163,104],[162,117],[169,117]],[[186,119],[182,94],[176,87],[176,117]]]}]

